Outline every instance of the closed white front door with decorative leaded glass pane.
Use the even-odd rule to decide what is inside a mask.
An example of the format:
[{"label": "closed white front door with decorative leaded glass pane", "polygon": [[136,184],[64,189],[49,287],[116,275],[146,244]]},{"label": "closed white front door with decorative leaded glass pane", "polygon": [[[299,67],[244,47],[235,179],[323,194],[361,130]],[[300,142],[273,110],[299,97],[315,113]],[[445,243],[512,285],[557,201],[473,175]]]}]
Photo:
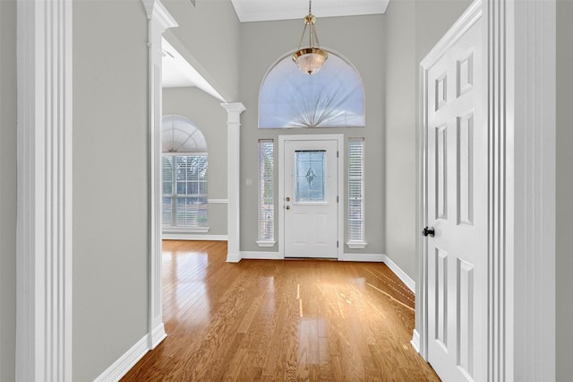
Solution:
[{"label": "closed white front door with decorative leaded glass pane", "polygon": [[338,140],[286,140],[285,257],[338,258]]}]

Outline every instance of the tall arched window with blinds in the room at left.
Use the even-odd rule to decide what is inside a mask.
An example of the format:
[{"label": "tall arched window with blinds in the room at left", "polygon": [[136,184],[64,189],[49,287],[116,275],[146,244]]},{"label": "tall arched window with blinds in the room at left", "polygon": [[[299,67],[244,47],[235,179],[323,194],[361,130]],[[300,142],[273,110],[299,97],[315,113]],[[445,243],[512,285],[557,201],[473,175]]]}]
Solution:
[{"label": "tall arched window with blinds in the room at left", "polygon": [[207,142],[189,118],[165,116],[161,127],[163,227],[207,227]]}]

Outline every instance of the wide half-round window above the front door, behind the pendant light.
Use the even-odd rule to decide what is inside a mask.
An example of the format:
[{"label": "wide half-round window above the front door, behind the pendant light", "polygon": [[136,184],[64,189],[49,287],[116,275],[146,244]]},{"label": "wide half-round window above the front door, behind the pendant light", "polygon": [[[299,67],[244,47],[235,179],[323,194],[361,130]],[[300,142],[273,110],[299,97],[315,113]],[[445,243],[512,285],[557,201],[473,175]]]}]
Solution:
[{"label": "wide half-round window above the front door, behind the pendant light", "polygon": [[364,87],[346,60],[329,52],[317,74],[304,74],[291,55],[273,66],[259,92],[259,128],[364,126]]}]

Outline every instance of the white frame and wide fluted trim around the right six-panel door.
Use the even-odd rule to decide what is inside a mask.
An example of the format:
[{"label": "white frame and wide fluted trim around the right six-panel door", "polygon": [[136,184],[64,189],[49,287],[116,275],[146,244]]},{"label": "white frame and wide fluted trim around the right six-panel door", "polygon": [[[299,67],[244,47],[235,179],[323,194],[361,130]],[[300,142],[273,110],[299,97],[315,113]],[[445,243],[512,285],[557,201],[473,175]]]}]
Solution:
[{"label": "white frame and wide fluted trim around the right six-panel door", "polygon": [[[555,8],[555,0],[475,0],[420,64],[418,232],[427,222],[425,68],[473,13],[482,13],[483,105],[489,135],[486,186],[490,195],[488,380],[554,380],[556,376]],[[528,61],[532,64],[522,64]],[[424,247],[420,236],[419,302],[412,344],[427,360]]]}]

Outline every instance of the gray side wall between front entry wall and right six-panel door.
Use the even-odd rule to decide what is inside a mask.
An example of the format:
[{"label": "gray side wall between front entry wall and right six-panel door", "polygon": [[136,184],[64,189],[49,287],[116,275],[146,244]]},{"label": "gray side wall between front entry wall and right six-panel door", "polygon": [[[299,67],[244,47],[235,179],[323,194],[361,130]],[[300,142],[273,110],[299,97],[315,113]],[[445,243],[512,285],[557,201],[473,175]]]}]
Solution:
[{"label": "gray side wall between front entry wall and right six-panel door", "polygon": [[[391,1],[385,14],[387,255],[418,279],[419,65],[470,0]],[[420,292],[416,282],[416,293]],[[419,308],[419,305],[416,306]],[[416,327],[420,313],[416,312]]]}]

